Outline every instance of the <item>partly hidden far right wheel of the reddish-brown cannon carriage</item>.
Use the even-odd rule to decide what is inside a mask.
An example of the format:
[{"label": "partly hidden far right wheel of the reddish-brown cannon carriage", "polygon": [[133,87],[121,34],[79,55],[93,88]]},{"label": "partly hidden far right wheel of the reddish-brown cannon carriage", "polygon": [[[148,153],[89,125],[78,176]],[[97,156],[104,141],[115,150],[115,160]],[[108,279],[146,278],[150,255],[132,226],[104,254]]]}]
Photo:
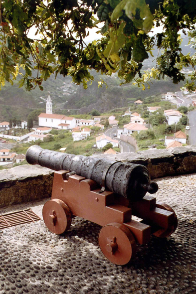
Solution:
[{"label": "partly hidden far right wheel of the reddish-brown cannon carriage", "polygon": [[171,212],[174,212],[174,221],[173,223],[167,228],[167,229],[160,229],[157,232],[155,232],[153,235],[155,235],[156,237],[160,237],[160,238],[167,238],[170,235],[172,235],[177,227],[178,227],[178,218],[177,215],[175,213],[175,211],[166,203],[164,202],[157,202],[156,203],[156,207],[161,208],[161,209],[165,209]]}]

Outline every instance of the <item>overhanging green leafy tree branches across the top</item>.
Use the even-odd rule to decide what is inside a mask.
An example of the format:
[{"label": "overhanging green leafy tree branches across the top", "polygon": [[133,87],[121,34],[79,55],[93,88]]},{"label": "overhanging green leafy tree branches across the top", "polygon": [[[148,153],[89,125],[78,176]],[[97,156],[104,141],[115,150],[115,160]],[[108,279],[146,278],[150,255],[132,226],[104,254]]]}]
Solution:
[{"label": "overhanging green leafy tree branches across the top", "polygon": [[[195,48],[195,23],[195,0],[0,0],[0,84],[13,83],[19,74],[19,87],[42,90],[42,81],[54,73],[87,88],[94,69],[117,72],[123,83],[145,89],[151,78],[185,81],[181,70],[191,66],[185,85],[193,90],[196,55],[183,55],[181,33]],[[97,25],[102,37],[86,44],[89,29]],[[149,34],[154,26],[163,29]],[[156,67],[143,72],[155,46]]]}]

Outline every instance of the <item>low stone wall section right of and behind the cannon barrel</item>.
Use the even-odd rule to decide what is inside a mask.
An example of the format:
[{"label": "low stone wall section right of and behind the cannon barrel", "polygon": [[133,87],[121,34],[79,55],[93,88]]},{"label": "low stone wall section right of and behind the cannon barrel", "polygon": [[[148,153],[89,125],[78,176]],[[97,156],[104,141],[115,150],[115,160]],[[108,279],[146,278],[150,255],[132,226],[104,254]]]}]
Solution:
[{"label": "low stone wall section right of and behind the cannon barrel", "polygon": [[196,172],[196,146],[93,156],[143,164],[152,179]]}]

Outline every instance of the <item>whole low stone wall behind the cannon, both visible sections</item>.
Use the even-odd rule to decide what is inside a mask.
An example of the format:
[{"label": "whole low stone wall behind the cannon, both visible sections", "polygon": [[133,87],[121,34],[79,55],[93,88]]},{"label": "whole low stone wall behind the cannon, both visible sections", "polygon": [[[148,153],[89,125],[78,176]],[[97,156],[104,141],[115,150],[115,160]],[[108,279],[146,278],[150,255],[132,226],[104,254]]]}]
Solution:
[{"label": "whole low stone wall behind the cannon, both visible sections", "polygon": [[[196,172],[196,147],[93,155],[145,165],[151,178]],[[0,207],[51,197],[54,171],[39,165],[0,170]]]}]

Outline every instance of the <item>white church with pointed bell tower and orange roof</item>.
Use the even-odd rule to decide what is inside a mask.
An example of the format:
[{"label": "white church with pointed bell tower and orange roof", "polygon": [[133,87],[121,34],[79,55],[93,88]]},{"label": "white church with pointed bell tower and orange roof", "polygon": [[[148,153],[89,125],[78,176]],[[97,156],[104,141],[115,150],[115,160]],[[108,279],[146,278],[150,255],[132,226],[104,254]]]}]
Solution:
[{"label": "white church with pointed bell tower and orange roof", "polygon": [[50,95],[48,95],[46,100],[46,113],[41,113],[38,119],[40,127],[68,130],[76,126],[75,118],[66,117],[62,114],[52,114],[52,100]]}]

